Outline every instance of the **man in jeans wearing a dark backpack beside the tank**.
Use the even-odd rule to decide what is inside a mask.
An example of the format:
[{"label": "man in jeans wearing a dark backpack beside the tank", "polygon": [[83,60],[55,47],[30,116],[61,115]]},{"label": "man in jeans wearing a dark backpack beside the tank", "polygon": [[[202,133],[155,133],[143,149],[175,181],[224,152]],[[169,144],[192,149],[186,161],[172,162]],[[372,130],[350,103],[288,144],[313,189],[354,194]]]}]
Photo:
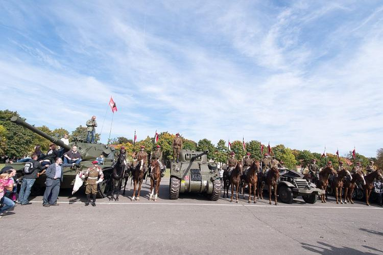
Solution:
[{"label": "man in jeans wearing a dark backpack beside the tank", "polygon": [[29,162],[32,163],[33,168],[32,170],[29,170],[29,173],[24,172],[24,177],[21,181],[21,188],[18,195],[18,203],[21,205],[31,204],[28,202],[28,197],[31,194],[31,189],[35,183],[36,178],[39,177],[39,170],[43,170],[44,168],[48,167],[48,165],[45,167],[41,166],[41,163],[37,161],[36,154],[32,155],[32,159]]}]

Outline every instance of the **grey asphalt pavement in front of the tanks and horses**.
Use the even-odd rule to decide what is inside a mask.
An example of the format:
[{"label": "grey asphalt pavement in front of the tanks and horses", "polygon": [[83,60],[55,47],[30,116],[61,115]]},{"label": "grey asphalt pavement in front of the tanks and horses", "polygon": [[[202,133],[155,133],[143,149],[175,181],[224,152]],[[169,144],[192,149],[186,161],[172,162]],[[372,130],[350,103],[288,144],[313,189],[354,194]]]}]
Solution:
[{"label": "grey asphalt pavement in front of the tanks and horses", "polygon": [[17,205],[0,219],[3,254],[383,254],[383,208],[362,202],[269,205],[209,201],[203,195],[169,200],[169,178],[159,199],[130,200],[130,183],[119,201],[84,206],[80,190],[60,192],[59,206],[42,197]]}]

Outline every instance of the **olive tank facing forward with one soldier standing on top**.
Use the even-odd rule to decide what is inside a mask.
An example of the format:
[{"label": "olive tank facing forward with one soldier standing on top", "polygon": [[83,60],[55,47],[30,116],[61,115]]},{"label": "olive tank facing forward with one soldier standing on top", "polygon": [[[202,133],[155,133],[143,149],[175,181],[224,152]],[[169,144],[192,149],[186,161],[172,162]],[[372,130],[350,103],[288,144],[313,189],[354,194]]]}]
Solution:
[{"label": "olive tank facing forward with one soldier standing on top", "polygon": [[180,193],[204,193],[210,200],[221,196],[222,183],[216,163],[208,163],[208,151],[181,150],[179,162],[172,161],[170,168],[170,199]]}]

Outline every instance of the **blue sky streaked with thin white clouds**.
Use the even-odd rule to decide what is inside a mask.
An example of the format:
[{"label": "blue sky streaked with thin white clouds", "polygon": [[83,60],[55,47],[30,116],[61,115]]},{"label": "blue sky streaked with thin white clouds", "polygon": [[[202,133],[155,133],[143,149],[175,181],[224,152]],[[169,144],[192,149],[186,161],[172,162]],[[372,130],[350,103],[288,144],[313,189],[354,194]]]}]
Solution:
[{"label": "blue sky streaked with thin white clouds", "polygon": [[112,138],[382,147],[381,1],[0,1],[0,36],[0,108],[36,126],[106,142],[112,96]]}]

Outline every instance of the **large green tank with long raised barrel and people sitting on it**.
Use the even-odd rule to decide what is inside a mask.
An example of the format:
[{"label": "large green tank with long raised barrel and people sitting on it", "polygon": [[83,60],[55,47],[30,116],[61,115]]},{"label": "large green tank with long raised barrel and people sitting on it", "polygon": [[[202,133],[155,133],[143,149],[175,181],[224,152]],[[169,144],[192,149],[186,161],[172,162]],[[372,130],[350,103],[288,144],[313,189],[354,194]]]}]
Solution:
[{"label": "large green tank with long raised barrel and people sitting on it", "polygon": [[[74,145],[77,146],[78,151],[81,153],[82,161],[79,165],[75,165],[74,167],[66,167],[63,169],[63,182],[61,183],[62,189],[73,189],[73,184],[76,178],[76,174],[79,171],[82,171],[91,167],[92,161],[94,161],[97,157],[103,154],[105,161],[104,161],[104,165],[101,165],[100,167],[103,169],[104,181],[99,183],[98,196],[105,197],[105,193],[110,191],[111,181],[109,180],[110,180],[112,164],[114,160],[114,148],[111,148],[108,145],[101,144],[101,143],[97,143],[97,144],[87,143],[86,140],[82,137],[74,137],[73,141],[71,141],[69,145],[66,145],[58,138],[44,133],[43,131],[26,123],[25,121],[23,121],[21,118],[17,116],[13,116],[11,118],[11,121],[17,125],[25,127],[31,130],[32,132],[46,138],[47,140],[60,146],[61,148],[64,148],[64,152],[70,150],[71,147]],[[18,175],[23,174],[22,170],[24,168],[24,165],[25,163],[9,164],[9,166],[12,166],[14,169],[17,170]],[[40,190],[43,190],[43,188],[45,187],[45,179],[46,179],[46,176],[44,174],[36,179],[36,182],[33,186],[35,193],[39,193]]]}]

